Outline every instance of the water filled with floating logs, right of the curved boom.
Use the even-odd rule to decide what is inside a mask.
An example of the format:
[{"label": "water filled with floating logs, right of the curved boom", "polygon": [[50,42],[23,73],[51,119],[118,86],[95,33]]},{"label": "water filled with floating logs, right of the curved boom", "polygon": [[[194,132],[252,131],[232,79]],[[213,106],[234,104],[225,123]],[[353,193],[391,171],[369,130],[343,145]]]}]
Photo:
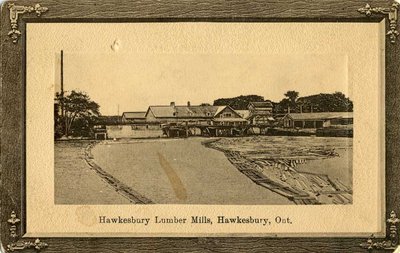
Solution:
[{"label": "water filled with floating logs, right of the curved boom", "polygon": [[[254,183],[296,204],[352,203],[352,140],[244,137],[205,141]],[[310,166],[311,165],[311,166]]]}]

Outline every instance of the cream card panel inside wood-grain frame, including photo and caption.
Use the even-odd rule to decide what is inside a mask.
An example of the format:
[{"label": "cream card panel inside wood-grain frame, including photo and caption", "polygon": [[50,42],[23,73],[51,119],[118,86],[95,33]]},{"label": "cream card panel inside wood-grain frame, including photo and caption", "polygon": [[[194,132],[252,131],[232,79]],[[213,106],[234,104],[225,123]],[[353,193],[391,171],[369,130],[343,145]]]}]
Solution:
[{"label": "cream card panel inside wood-grain frame, including photo and caption", "polygon": [[382,30],[28,24],[27,233],[382,234]]}]

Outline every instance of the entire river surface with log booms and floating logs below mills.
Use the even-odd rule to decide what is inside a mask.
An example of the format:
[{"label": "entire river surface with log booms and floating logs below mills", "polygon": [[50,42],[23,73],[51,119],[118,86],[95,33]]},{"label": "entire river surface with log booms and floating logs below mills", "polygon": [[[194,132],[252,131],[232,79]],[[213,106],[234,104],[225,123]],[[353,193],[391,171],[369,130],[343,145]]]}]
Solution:
[{"label": "entire river surface with log booms and floating logs below mills", "polygon": [[[57,142],[55,202],[280,205],[352,201],[352,139],[215,140],[121,140],[93,146],[89,141]],[[204,145],[209,141],[214,142]],[[337,155],[330,156],[331,152]],[[296,172],[287,169],[292,165]],[[337,184],[350,190],[338,191]],[[343,193],[345,198],[332,198],[331,193]],[[316,201],[311,195],[318,195]]]}]

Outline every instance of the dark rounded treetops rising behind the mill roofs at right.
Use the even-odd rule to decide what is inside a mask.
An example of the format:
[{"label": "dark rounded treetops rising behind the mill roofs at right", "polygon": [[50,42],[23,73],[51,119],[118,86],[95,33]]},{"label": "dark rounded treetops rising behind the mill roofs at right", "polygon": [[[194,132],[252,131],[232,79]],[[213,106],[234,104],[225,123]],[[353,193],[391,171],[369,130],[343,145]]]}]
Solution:
[{"label": "dark rounded treetops rising behind the mill roofs at right", "polygon": [[[250,102],[263,102],[263,96],[248,95],[233,98],[219,98],[213,105],[229,105],[235,110],[247,109]],[[273,102],[274,113],[287,112],[352,112],[353,102],[342,92],[320,93],[311,96],[299,97],[297,91],[287,91],[279,102]]]}]

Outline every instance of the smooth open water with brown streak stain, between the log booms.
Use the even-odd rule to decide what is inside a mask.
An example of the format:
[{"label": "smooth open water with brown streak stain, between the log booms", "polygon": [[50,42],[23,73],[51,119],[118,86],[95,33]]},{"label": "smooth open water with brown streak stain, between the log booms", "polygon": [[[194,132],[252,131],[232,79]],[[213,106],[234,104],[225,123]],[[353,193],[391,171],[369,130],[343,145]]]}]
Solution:
[{"label": "smooth open water with brown streak stain, between the log booms", "polygon": [[154,203],[294,204],[254,184],[204,140],[209,138],[104,141],[92,154],[104,171]]}]

